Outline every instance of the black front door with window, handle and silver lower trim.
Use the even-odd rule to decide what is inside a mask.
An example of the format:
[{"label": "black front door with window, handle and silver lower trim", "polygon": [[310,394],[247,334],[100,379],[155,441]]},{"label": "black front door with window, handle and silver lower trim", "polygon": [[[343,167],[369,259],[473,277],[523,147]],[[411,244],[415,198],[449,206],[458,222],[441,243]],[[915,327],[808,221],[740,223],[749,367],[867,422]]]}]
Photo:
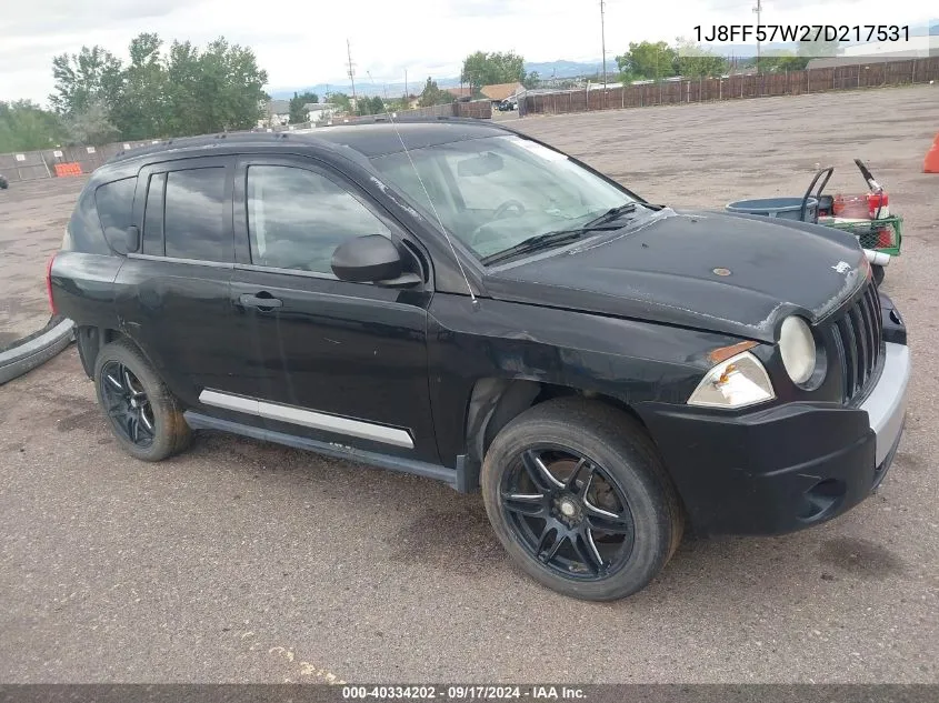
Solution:
[{"label": "black front door with window, handle and silver lower trim", "polygon": [[348,239],[399,240],[403,230],[312,160],[243,158],[234,192],[231,297],[270,379],[258,405],[269,429],[439,461],[427,375],[429,290],[339,281],[330,267]]}]

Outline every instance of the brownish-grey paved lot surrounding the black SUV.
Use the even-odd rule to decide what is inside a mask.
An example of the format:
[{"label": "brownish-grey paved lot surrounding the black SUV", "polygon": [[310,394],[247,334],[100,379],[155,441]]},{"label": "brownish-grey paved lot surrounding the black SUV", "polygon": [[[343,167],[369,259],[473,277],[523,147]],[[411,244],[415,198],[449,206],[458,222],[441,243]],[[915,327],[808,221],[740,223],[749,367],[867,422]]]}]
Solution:
[{"label": "brownish-grey paved lot surrounding the black SUV", "polygon": [[[847,515],[687,540],[632,599],[565,600],[510,565],[478,495],[222,435],[128,459],[70,349],[0,389],[0,677],[939,682],[937,116],[926,87],[515,122],[658,202],[797,194],[816,162],[862,190],[868,162],[906,217],[885,288],[915,379],[897,462]],[[49,223],[37,251],[69,199],[18,215]]]}]

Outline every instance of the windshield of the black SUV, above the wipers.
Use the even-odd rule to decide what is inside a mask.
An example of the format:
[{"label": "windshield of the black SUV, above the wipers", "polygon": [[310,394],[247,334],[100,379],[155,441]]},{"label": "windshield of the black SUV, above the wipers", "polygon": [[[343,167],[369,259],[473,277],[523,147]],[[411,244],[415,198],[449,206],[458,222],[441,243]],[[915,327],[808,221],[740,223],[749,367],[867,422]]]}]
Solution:
[{"label": "windshield of the black SUV, above the wipers", "polygon": [[[633,202],[566,155],[515,134],[427,147],[410,157],[443,227],[479,259],[539,234],[577,230]],[[371,162],[437,221],[407,153]]]}]

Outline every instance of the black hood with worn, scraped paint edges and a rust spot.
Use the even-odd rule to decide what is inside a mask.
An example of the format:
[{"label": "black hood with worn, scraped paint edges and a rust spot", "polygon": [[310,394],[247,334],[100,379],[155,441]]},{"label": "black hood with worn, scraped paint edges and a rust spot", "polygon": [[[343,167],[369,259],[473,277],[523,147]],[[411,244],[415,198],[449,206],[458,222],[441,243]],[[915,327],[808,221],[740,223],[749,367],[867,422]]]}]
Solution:
[{"label": "black hood with worn, scraped paint edges and a rust spot", "polygon": [[786,315],[825,317],[867,279],[853,235],[793,220],[666,208],[616,232],[496,267],[496,299],[763,342]]}]

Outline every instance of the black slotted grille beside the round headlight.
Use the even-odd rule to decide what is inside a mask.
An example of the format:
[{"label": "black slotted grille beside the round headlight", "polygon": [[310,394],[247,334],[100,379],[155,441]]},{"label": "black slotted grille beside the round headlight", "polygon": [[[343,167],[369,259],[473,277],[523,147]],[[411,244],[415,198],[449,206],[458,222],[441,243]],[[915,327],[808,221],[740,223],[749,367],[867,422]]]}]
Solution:
[{"label": "black slotted grille beside the round headlight", "polygon": [[833,322],[835,345],[841,356],[845,402],[863,394],[872,380],[883,347],[883,320],[877,287],[869,282],[863,294]]}]

